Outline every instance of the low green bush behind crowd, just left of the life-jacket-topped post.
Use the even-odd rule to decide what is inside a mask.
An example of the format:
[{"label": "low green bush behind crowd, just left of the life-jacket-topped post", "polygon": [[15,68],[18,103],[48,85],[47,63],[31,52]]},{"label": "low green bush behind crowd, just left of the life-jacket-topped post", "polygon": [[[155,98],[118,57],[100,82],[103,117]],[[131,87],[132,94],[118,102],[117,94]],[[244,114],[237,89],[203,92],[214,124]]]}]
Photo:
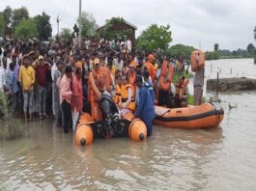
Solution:
[{"label": "low green bush behind crowd, just left of the life-jacket-topped post", "polygon": [[167,56],[170,56],[175,59],[179,59],[181,57],[185,58],[186,60],[190,59],[191,52],[195,50],[193,46],[187,46],[184,44],[176,44],[171,46],[165,51]]}]

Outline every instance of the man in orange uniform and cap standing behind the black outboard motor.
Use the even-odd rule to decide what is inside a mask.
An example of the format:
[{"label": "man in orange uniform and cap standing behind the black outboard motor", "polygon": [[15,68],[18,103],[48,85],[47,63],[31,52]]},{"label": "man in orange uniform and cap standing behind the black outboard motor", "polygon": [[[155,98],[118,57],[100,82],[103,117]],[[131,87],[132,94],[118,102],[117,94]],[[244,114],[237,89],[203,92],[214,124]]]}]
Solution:
[{"label": "man in orange uniform and cap standing behind the black outboard motor", "polygon": [[102,90],[104,90],[104,80],[100,71],[100,59],[96,58],[93,62],[93,69],[89,74],[89,100],[92,107],[92,117],[96,121],[102,120],[99,99]]}]

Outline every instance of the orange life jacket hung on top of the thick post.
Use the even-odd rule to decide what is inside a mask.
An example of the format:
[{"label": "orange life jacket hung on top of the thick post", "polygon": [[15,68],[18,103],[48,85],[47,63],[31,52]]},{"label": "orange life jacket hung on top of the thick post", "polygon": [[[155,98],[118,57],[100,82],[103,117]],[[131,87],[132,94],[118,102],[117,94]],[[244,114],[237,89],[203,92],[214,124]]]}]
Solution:
[{"label": "orange life jacket hung on top of the thick post", "polygon": [[190,55],[191,60],[191,69],[192,71],[197,71],[199,68],[203,68],[205,66],[205,53],[201,50],[194,50]]}]

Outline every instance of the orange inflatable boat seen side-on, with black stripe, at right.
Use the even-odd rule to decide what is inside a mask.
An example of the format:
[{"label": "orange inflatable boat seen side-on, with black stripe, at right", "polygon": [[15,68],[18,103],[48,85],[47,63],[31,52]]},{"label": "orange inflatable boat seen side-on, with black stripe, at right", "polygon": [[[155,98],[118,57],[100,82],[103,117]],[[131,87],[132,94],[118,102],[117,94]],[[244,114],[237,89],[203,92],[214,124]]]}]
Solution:
[{"label": "orange inflatable boat seen side-on, with black stripe, at right", "polygon": [[221,123],[224,117],[224,110],[217,102],[175,109],[155,106],[155,112],[154,123],[169,128],[213,127]]}]

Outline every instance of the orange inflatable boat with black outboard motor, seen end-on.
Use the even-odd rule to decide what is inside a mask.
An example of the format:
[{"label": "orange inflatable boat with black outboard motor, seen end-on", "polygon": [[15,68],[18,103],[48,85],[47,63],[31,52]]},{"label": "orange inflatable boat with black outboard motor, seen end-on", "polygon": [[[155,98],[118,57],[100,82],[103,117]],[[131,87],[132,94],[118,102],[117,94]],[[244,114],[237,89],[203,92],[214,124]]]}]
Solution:
[{"label": "orange inflatable boat with black outboard motor, seen end-on", "polygon": [[104,120],[95,122],[90,114],[81,115],[74,134],[77,146],[90,145],[97,138],[129,137],[134,141],[143,141],[147,138],[146,124],[134,119],[133,114],[128,113],[124,119],[119,119],[118,115],[115,115],[117,110],[111,97],[102,96],[100,103]]}]

